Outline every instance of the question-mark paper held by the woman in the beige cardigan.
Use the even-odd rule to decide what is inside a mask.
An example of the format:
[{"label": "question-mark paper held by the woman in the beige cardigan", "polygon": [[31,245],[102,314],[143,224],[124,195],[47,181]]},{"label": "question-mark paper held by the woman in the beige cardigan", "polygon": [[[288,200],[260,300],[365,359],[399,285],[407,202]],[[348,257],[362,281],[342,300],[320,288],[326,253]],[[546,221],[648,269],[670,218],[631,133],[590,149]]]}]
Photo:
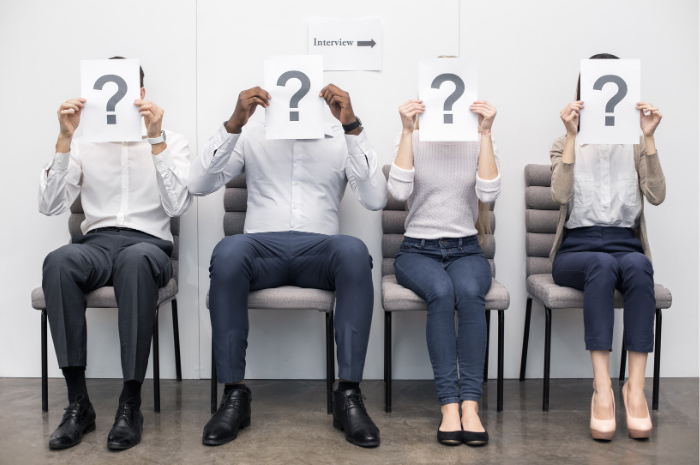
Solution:
[{"label": "question-mark paper held by the woman in the beige cardigan", "polygon": [[581,60],[582,144],[638,144],[639,60]]}]

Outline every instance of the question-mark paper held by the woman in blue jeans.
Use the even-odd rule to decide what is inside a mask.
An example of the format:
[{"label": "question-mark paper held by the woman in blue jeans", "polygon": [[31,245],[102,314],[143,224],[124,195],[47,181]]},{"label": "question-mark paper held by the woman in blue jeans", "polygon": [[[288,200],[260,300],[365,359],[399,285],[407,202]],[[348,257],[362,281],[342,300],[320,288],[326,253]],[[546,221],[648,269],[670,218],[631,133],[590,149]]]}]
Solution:
[{"label": "question-mark paper held by the woman in blue jeans", "polygon": [[418,64],[421,141],[476,141],[478,118],[469,107],[477,99],[476,62],[467,58],[432,58]]}]

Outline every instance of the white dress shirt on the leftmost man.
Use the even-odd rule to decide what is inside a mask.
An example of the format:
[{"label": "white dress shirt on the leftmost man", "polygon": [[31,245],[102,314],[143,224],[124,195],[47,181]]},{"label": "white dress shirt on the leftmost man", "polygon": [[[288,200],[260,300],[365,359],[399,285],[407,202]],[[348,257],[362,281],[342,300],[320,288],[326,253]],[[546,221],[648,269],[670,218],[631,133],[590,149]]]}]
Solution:
[{"label": "white dress shirt on the leftmost man", "polygon": [[151,144],[87,142],[73,139],[69,153],[54,153],[41,170],[39,211],[58,215],[81,195],[83,234],[96,228],[131,228],[172,241],[170,217],[192,203],[187,191],[189,147],[180,134],[166,132],[166,149]]}]

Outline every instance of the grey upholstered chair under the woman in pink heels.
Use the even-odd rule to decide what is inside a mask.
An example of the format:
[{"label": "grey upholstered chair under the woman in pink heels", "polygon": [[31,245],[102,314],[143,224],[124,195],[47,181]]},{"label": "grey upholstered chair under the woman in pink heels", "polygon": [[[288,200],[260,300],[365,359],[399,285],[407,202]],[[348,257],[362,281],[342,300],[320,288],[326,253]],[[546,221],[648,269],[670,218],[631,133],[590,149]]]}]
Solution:
[{"label": "grey upholstered chair under the woman in pink heels", "polygon": [[[545,309],[544,339],[544,386],[542,410],[549,411],[549,362],[552,341],[552,310],[583,308],[583,292],[554,284],[549,252],[554,245],[554,235],[559,220],[559,205],[552,200],[552,171],[550,165],[527,165],[525,167],[525,226],[527,229],[527,306],[525,310],[525,332],[520,362],[520,381],[525,380],[527,347],[530,337],[532,301]],[[659,408],[659,372],[661,368],[661,310],[671,306],[671,292],[661,284],[654,285],[656,293],[656,341],[654,343],[654,383],[652,409]],[[623,295],[615,291],[615,308],[623,307]],[[625,379],[627,351],[622,343],[620,381]]]}]

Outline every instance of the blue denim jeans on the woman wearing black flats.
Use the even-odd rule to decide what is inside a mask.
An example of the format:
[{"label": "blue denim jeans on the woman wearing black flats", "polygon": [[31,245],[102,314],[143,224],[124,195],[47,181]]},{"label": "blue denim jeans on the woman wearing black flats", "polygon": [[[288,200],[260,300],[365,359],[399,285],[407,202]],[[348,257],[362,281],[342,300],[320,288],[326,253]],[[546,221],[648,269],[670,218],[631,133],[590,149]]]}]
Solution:
[{"label": "blue denim jeans on the woman wearing black flats", "polygon": [[[491,288],[491,266],[476,236],[436,240],[406,237],[394,268],[398,283],[428,303],[425,333],[438,400],[442,405],[460,400],[478,402],[484,376],[484,305]],[[459,334],[455,334],[455,307]]]}]

